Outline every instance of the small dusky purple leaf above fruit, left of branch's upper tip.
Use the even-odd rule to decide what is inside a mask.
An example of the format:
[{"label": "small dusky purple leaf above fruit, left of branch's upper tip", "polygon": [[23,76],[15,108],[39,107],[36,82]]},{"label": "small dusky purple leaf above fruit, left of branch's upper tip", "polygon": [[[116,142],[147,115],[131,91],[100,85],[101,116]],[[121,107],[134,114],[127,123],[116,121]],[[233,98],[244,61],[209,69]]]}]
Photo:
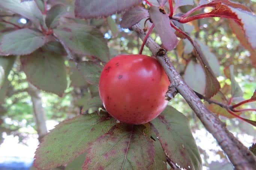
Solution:
[{"label": "small dusky purple leaf above fruit, left of branch's upper tip", "polygon": [[140,22],[140,20],[142,20],[143,18],[148,17],[148,10],[140,6],[136,6],[131,10],[126,11],[125,14],[123,14],[120,26],[122,28],[130,28],[131,26]]}]

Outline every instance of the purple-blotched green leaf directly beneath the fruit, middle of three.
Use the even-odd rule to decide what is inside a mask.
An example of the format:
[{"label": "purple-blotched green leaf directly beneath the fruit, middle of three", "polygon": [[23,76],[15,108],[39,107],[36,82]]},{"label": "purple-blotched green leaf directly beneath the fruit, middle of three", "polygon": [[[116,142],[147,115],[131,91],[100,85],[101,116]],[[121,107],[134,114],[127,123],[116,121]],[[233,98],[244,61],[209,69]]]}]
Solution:
[{"label": "purple-blotched green leaf directly beneath the fruit, middle of three", "polygon": [[146,135],[144,125],[117,124],[90,146],[83,169],[148,170],[155,151]]}]

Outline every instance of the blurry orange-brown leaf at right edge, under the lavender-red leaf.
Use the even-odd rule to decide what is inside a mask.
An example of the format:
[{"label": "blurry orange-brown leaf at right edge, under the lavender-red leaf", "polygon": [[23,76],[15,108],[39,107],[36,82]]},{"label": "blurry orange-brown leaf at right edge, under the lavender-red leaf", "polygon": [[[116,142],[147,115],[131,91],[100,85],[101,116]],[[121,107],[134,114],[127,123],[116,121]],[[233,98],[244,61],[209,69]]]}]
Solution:
[{"label": "blurry orange-brown leaf at right edge, under the lavender-red leaf", "polygon": [[244,31],[242,30],[240,25],[238,25],[232,19],[229,19],[229,26],[232,29],[233,33],[235,33],[237,39],[240,41],[242,46],[244,46],[244,48],[250,52],[251,62],[253,66],[256,67],[256,49],[252,48],[251,44],[248,42],[248,39],[246,38]]}]

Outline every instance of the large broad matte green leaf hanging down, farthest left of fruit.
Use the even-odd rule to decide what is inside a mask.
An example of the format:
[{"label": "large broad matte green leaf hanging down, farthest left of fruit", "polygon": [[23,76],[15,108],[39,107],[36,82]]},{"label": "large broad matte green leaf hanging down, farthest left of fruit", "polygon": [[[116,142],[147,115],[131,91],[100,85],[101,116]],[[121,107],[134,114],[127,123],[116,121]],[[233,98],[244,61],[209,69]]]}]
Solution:
[{"label": "large broad matte green leaf hanging down, farthest left of fruit", "polygon": [[38,50],[21,57],[27,79],[37,88],[62,96],[67,88],[66,67],[61,55]]}]

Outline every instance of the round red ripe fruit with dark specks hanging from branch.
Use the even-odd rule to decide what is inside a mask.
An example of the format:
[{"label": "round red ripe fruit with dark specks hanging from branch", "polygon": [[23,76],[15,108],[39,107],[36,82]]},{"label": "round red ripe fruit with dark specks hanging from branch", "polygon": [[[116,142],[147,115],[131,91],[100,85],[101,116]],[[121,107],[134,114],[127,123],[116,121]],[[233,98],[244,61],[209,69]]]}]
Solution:
[{"label": "round red ripe fruit with dark specks hanging from branch", "polygon": [[144,124],[166,107],[170,82],[163,67],[146,55],[119,55],[102,70],[99,95],[108,113],[128,124]]}]

